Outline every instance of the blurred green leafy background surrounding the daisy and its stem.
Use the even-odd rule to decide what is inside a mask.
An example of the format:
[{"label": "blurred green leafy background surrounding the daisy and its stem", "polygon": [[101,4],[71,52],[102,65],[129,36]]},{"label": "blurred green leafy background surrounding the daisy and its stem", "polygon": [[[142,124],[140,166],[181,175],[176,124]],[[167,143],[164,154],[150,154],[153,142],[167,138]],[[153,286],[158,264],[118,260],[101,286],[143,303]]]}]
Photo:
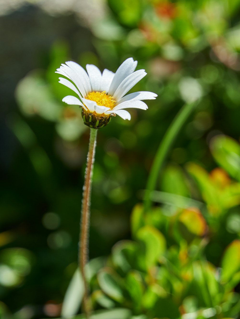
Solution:
[{"label": "blurred green leafy background surrounding the daisy and its stem", "polygon": [[[132,91],[158,97],[99,130],[96,318],[239,316],[239,17],[239,0],[0,0],[2,318],[60,316],[77,267],[89,129],[54,71],[73,60],[115,72],[128,57],[148,73]],[[196,99],[144,214],[156,150]]]}]

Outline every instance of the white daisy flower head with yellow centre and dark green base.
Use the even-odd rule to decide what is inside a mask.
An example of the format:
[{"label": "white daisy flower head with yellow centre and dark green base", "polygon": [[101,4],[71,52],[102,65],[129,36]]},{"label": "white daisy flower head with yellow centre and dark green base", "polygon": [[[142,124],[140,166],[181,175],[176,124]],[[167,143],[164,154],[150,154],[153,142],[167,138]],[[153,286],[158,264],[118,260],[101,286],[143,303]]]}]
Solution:
[{"label": "white daisy flower head with yellow centre and dark green base", "polygon": [[[84,123],[91,128],[100,128],[108,124],[112,116],[119,115],[130,120],[126,108],[148,108],[142,100],[156,99],[157,94],[148,91],[134,92],[125,95],[136,83],[147,74],[137,70],[137,61],[125,60],[116,73],[105,69],[102,73],[92,64],[87,64],[87,72],[79,64],[67,61],[55,73],[66,78],[59,78],[59,83],[69,87],[78,97],[68,95],[62,101],[82,107]],[[71,80],[72,82],[70,82]]]}]

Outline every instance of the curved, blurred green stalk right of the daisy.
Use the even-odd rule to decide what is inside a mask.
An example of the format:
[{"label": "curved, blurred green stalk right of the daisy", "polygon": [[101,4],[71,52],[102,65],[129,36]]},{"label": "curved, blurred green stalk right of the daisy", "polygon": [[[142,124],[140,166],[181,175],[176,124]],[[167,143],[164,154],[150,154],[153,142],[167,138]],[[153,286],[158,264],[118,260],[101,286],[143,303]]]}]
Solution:
[{"label": "curved, blurred green stalk right of the daisy", "polygon": [[188,116],[191,114],[196,104],[197,102],[185,104],[180,109],[178,114],[173,119],[168,130],[166,131],[158,147],[155,159],[153,161],[153,165],[148,176],[146,191],[144,195],[144,211],[148,211],[151,208],[151,193],[156,188],[157,179],[159,176],[159,172],[163,167],[164,160],[166,159],[166,156],[172,146],[172,143],[174,142],[180,129],[188,119]]}]

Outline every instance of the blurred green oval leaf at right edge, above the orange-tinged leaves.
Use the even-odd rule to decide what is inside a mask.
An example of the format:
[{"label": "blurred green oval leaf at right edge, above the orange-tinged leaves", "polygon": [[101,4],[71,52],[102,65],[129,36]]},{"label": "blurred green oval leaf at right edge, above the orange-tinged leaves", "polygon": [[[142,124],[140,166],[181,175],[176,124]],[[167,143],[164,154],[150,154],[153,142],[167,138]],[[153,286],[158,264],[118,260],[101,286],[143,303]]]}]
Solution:
[{"label": "blurred green oval leaf at right edge, above the orange-tinged leaves", "polygon": [[215,160],[228,174],[240,181],[240,145],[233,138],[220,135],[212,138],[211,151]]}]

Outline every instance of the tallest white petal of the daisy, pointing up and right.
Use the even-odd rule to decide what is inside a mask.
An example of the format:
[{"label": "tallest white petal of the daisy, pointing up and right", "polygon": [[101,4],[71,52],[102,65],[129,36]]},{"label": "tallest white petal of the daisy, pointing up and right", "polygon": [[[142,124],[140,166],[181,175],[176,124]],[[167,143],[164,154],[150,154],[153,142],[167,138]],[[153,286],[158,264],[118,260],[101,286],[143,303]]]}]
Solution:
[{"label": "tallest white petal of the daisy, pointing up and right", "polygon": [[133,58],[126,59],[116,70],[115,76],[109,87],[108,94],[113,96],[118,86],[129,74],[131,74],[138,64],[138,61],[134,61]]}]

